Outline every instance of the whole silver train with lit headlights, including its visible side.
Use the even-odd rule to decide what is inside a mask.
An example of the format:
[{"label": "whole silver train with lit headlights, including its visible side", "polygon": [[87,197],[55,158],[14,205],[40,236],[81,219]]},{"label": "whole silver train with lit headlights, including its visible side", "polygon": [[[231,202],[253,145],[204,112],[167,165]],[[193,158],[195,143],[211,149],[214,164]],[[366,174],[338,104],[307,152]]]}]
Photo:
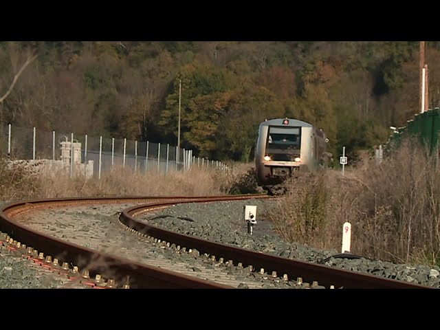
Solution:
[{"label": "whole silver train with lit headlights, including its visible side", "polygon": [[296,170],[313,172],[327,167],[324,131],[292,118],[265,120],[259,125],[255,146],[255,172],[259,186],[281,184]]}]

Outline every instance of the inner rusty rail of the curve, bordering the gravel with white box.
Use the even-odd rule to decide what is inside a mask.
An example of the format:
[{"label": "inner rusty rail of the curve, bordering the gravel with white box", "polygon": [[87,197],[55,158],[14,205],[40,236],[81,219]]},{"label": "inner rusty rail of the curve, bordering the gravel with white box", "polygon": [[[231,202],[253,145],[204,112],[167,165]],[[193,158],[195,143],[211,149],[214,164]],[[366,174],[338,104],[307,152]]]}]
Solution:
[{"label": "inner rusty rail of the curve, bordering the gravel with white box", "polygon": [[[190,201],[182,201],[190,203]],[[154,236],[170,243],[185,246],[187,249],[197,249],[200,253],[208,253],[217,257],[223,257],[225,260],[232,260],[234,263],[242,263],[243,267],[252,265],[253,267],[264,268],[266,271],[276,271],[278,274],[287,274],[289,278],[302,277],[308,281],[318,281],[320,285],[329,287],[344,287],[347,289],[432,289],[425,285],[416,285],[404,281],[397,281],[359,272],[340,270],[334,267],[307,263],[305,261],[296,261],[272,256],[261,252],[254,252],[242,248],[235,248],[231,245],[215,243],[199,239],[195,236],[177,234],[155,226],[142,223],[135,219],[136,214],[146,212],[148,208],[157,206],[169,206],[173,203],[155,203],[154,206],[141,205],[128,208],[120,214],[120,221],[129,228],[137,230],[143,234]]]}]

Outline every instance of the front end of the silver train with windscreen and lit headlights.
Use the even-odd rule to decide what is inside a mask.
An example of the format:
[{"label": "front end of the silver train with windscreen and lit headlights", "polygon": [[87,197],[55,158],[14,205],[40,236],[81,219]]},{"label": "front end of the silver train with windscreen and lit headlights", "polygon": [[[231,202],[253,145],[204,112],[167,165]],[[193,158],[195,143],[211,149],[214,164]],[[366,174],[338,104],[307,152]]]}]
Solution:
[{"label": "front end of the silver train with windscreen and lit headlights", "polygon": [[260,186],[280,184],[295,170],[307,168],[313,155],[310,137],[313,127],[294,119],[262,122],[256,142],[256,180]]}]

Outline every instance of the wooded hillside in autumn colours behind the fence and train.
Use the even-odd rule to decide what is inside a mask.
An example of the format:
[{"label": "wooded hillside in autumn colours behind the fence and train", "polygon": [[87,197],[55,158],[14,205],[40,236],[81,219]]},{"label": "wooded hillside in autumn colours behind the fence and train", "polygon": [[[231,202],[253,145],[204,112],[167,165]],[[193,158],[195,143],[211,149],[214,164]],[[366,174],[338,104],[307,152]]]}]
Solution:
[{"label": "wooded hillside in autumn colours behind the fence and train", "polygon": [[[32,57],[36,56],[36,57]],[[428,42],[430,107],[440,43]],[[265,118],[320,126],[349,157],[419,109],[419,42],[1,42],[0,124],[177,144],[253,159]]]}]

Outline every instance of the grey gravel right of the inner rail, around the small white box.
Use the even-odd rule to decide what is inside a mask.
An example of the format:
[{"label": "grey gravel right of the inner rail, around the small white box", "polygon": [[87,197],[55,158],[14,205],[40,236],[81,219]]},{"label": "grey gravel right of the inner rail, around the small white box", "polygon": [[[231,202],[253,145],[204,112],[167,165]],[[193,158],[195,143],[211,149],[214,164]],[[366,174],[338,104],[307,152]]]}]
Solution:
[{"label": "grey gravel right of the inner rail, around the small white box", "polygon": [[[336,250],[317,250],[307,245],[284,241],[264,219],[264,214],[274,207],[274,201],[250,199],[247,201],[224,201],[218,203],[184,203],[173,207],[146,213],[140,219],[166,230],[190,236],[199,236],[209,241],[236,245],[290,259],[318,263],[329,258],[327,266],[339,267],[354,272],[393,278],[399,281],[440,287],[439,267],[426,265],[394,264],[369,259],[336,259]],[[248,234],[244,221],[245,205],[256,206],[256,225],[252,236]]]}]

